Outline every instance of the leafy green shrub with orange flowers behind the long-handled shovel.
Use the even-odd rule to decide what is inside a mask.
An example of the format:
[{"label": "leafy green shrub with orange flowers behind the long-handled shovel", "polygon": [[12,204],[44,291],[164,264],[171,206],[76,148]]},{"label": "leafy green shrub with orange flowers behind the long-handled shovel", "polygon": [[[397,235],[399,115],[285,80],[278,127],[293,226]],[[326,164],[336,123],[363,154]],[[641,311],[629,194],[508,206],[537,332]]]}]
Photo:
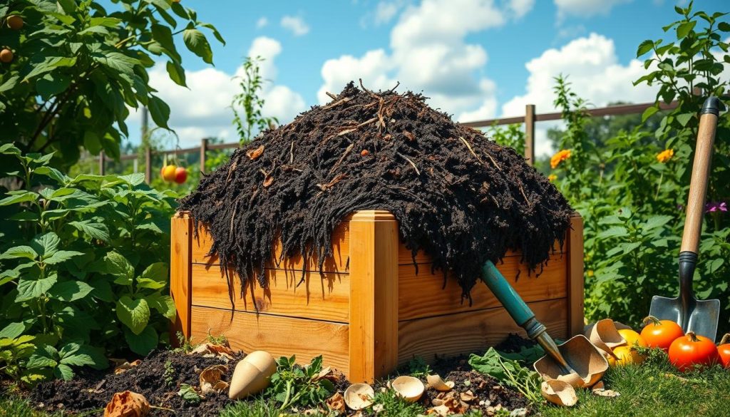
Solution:
[{"label": "leafy green shrub with orange flowers behind the long-handled shovel", "polygon": [[[559,77],[556,105],[567,131],[558,142],[569,158],[553,162],[556,185],[585,221],[585,313],[589,320],[610,316],[638,325],[653,294],[677,294],[677,255],[684,226],[684,205],[694,160],[699,110],[710,94],[730,104],[727,80],[719,74],[730,62],[720,32],[725,13],[692,12],[677,7],[680,20],[664,27],[674,40],[645,41],[637,56],[648,74],[637,83],[658,85],[656,104],[644,123],[661,117],[653,134],[639,128],[621,131],[597,147],[586,133],[586,103]],[[695,95],[695,88],[701,90]],[[660,102],[679,106],[658,112]],[[730,330],[730,218],[721,202],[730,200],[730,115],[722,112],[707,199],[715,210],[705,215],[694,286],[699,298],[719,298],[721,331]]]}]

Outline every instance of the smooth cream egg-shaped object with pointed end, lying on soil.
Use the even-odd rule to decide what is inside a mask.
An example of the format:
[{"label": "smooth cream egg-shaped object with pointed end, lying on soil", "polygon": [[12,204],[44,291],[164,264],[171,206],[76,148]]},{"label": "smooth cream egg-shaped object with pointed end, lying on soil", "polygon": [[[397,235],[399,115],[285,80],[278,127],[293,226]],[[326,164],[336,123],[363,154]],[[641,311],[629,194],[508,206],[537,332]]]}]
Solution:
[{"label": "smooth cream egg-shaped object with pointed end, lying on soil", "polygon": [[236,364],[231,376],[228,398],[240,399],[263,391],[276,372],[276,361],[271,353],[253,351]]}]

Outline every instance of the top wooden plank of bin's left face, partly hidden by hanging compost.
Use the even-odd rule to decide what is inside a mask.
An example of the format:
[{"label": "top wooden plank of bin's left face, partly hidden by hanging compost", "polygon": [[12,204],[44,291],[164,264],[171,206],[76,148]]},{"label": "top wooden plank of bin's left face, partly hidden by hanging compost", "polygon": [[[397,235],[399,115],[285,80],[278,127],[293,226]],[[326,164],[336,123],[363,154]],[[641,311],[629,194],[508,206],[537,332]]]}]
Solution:
[{"label": "top wooden plank of bin's left face, partly hidden by hanging compost", "polygon": [[[203,224],[199,225],[198,236],[193,238],[193,262],[196,264],[218,265],[218,256],[208,256],[213,240],[208,229]],[[345,220],[339,223],[332,232],[332,250],[334,256],[326,259],[323,265],[323,271],[326,272],[347,272],[347,259],[350,256],[350,226],[349,221]],[[274,243],[274,259],[279,259],[281,255],[281,242]],[[270,262],[268,267],[276,267],[280,269],[298,269],[301,270],[304,262],[301,255],[293,256],[285,259],[281,264]],[[319,272],[317,257],[309,259],[307,262],[307,270]]]}]

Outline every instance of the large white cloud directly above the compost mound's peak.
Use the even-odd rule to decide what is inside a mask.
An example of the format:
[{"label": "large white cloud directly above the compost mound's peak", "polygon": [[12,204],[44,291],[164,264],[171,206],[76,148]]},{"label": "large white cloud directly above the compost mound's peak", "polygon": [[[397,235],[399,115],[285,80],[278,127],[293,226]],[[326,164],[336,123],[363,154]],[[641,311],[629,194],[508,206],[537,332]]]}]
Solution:
[{"label": "large white cloud directly above the compost mound's peak", "polygon": [[[531,1],[513,1],[526,12]],[[405,88],[423,91],[429,104],[463,119],[496,110],[493,81],[482,74],[488,55],[480,45],[466,42],[469,34],[503,26],[518,14],[510,4],[493,0],[423,0],[407,6],[391,31],[390,52],[371,50],[363,56],[340,56],[322,66],[320,103],[325,91],[339,92],[347,81],[363,78],[368,88]],[[463,116],[463,117],[462,117]]]}]

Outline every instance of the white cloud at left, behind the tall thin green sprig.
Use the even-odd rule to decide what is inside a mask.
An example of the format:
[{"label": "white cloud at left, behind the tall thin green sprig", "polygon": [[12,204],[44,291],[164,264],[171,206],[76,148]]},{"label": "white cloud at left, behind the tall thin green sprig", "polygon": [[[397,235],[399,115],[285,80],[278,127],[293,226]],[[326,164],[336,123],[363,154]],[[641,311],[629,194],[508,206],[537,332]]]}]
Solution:
[{"label": "white cloud at left, behind the tall thin green sprig", "polygon": [[[262,91],[265,104],[261,112],[288,123],[306,107],[299,93],[275,83],[277,68],[274,61],[282,52],[281,44],[276,39],[258,37],[248,52],[249,56],[265,59],[260,66],[261,77],[266,80]],[[150,85],[169,104],[169,126],[177,132],[183,148],[198,145],[203,137],[221,137],[226,142],[237,140],[231,124],[230,105],[239,91],[239,80],[233,77],[242,74],[242,66],[234,74],[215,68],[185,71],[188,88],[183,88],[169,80],[164,64],[157,64],[150,70]],[[135,119],[139,120],[139,116]]]}]

